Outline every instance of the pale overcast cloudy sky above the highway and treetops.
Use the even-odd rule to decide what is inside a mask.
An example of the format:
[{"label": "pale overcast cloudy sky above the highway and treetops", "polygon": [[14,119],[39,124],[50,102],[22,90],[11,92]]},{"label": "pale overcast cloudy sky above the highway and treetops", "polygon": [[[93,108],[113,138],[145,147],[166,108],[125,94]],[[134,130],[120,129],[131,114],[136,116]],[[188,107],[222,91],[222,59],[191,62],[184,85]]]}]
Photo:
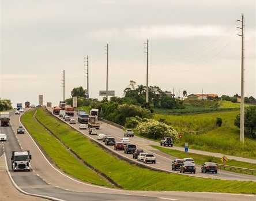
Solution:
[{"label": "pale overcast cloudy sky above the highway and treetops", "polygon": [[246,96],[256,96],[255,0],[0,0],[0,97],[14,104],[57,104],[76,86],[89,95],[106,89],[122,96],[133,80],[146,84],[145,42],[149,39],[149,85],[187,93],[240,94],[241,14],[245,18]]}]

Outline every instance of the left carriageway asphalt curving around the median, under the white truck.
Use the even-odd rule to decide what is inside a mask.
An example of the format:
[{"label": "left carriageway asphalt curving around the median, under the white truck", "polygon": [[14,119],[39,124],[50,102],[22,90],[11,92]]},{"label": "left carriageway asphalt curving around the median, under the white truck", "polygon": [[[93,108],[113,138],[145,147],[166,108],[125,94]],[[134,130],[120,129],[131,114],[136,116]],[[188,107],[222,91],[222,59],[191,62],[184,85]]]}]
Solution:
[{"label": "left carriageway asphalt curving around the median, under the white truck", "polygon": [[[52,200],[255,200],[254,195],[214,194],[199,192],[155,192],[125,191],[87,184],[66,175],[39,149],[27,131],[16,134],[21,125],[20,115],[11,116],[12,127],[1,127],[7,135],[5,154],[8,169],[20,189],[30,194],[51,197]],[[104,125],[104,124],[103,124]],[[108,127],[107,125],[105,125]],[[102,126],[100,131],[103,131]],[[17,138],[16,138],[17,137]],[[134,138],[135,139],[135,138]],[[12,172],[10,153],[13,150],[30,150],[32,154],[31,172]],[[50,161],[50,162],[49,162]],[[157,165],[157,164],[156,164]]]}]

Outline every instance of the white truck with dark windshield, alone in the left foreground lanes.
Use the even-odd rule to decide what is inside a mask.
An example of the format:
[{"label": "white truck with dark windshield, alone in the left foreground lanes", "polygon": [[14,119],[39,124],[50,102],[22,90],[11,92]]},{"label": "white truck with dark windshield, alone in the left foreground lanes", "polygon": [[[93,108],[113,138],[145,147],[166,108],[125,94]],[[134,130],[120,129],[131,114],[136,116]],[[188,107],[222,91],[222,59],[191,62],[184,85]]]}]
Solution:
[{"label": "white truck with dark windshield, alone in the left foreground lanes", "polygon": [[13,172],[16,170],[31,170],[31,155],[29,151],[12,151],[12,169]]}]

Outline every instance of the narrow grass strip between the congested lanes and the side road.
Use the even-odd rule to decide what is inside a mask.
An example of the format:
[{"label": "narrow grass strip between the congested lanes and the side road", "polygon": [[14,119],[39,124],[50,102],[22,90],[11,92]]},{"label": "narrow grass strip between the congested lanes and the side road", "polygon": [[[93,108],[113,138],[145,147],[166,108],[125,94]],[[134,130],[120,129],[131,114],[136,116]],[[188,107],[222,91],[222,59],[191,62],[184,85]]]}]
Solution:
[{"label": "narrow grass strip between the congested lanes and the side road", "polygon": [[[215,162],[217,164],[222,164],[220,161],[220,158],[213,157],[213,156],[205,156],[201,154],[194,154],[194,153],[185,153],[184,151],[178,151],[173,149],[167,149],[160,146],[152,145],[155,149],[158,149],[160,151],[163,151],[164,153],[167,153],[171,156],[174,156],[176,158],[193,158],[195,161],[195,164],[204,164],[204,162]],[[248,168],[248,169],[256,169],[256,164],[251,164],[249,162],[241,162],[236,160],[228,160],[225,165],[235,166],[239,168]]]}]

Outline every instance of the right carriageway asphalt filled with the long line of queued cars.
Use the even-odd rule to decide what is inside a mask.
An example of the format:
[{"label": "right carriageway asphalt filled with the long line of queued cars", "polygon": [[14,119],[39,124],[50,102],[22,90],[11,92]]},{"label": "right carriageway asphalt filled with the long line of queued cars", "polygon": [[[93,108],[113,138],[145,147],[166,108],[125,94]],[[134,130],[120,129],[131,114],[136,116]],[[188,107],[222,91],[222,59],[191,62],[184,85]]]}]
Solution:
[{"label": "right carriageway asphalt filled with the long line of queued cars", "polygon": [[[48,108],[50,111],[52,111],[51,108]],[[58,115],[55,115],[58,117]],[[63,122],[65,122],[62,118],[61,119]],[[74,119],[77,121],[77,112],[75,112]],[[68,122],[67,122],[68,123]],[[68,123],[69,124],[69,123]],[[77,130],[79,129],[79,124],[69,124],[71,127],[76,128]],[[97,135],[89,135],[88,130],[79,130],[82,132],[84,135],[86,135],[89,138],[95,139],[97,141]],[[99,130],[97,130],[97,133],[104,133],[108,134],[111,136],[114,136],[116,139],[116,142],[120,141],[124,136],[123,136],[123,130],[120,128],[117,128],[115,126],[112,126],[110,124],[102,122],[101,127]],[[108,149],[111,151],[114,151],[116,153],[121,154],[123,157],[127,157],[130,160],[133,160],[134,162],[138,162],[143,165],[147,166],[152,166],[153,168],[157,168],[160,170],[165,170],[167,172],[172,172],[172,173],[177,173],[177,174],[182,174],[179,173],[179,171],[172,171],[171,170],[171,161],[174,160],[175,157],[172,157],[168,154],[163,153],[162,151],[159,151],[157,149],[154,149],[150,145],[157,145],[159,146],[160,143],[154,142],[154,141],[149,141],[148,139],[141,138],[140,136],[135,136],[133,138],[129,137],[130,143],[135,144],[138,148],[144,150],[146,153],[153,153],[156,157],[156,164],[143,164],[143,162],[138,162],[136,159],[133,159],[132,154],[125,154],[123,150],[114,150],[114,146],[106,146]],[[101,144],[104,145],[102,141],[99,141]],[[105,146],[105,145],[104,145]],[[207,161],[205,161],[207,162]],[[196,173],[191,174],[191,173],[185,173],[183,175],[189,175],[189,176],[195,176],[195,177],[204,177],[204,178],[211,178],[211,179],[223,179],[223,180],[239,180],[239,181],[256,181],[256,177],[252,175],[244,175],[240,173],[235,173],[235,172],[229,172],[225,170],[218,170],[218,173],[201,173],[201,166],[197,165],[196,168]]]}]

